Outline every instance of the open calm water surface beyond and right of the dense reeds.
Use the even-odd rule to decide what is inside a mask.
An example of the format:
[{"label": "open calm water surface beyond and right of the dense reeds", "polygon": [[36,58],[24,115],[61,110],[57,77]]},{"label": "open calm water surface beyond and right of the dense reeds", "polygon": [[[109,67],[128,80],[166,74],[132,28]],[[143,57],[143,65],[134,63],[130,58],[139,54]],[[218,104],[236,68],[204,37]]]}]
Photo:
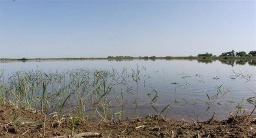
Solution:
[{"label": "open calm water surface beyond and right of the dense reeds", "polygon": [[[132,69],[140,71],[140,80],[129,82],[134,95],[124,93],[126,104],[125,116],[144,117],[156,114],[168,104],[163,116],[173,120],[207,120],[214,111],[217,119],[225,119],[231,111],[236,109],[238,103],[244,99],[245,108],[252,110],[253,105],[246,100],[255,97],[256,66],[255,61],[198,61],[198,60],[50,60],[27,62],[0,62],[0,69],[4,70],[4,80],[13,75],[15,71],[43,70],[46,72],[66,71],[72,69],[116,69],[117,72],[128,72]],[[235,73],[239,73],[238,77]],[[244,75],[245,77],[242,77]],[[250,75],[250,77],[249,77]],[[175,83],[175,84],[172,84]],[[221,87],[220,87],[221,86]],[[221,93],[218,98],[209,100],[216,94],[218,87]],[[125,89],[122,85],[116,90]],[[150,104],[156,95],[158,99]],[[176,91],[175,91],[176,89]],[[152,92],[151,95],[148,93]],[[108,98],[113,99],[115,95]],[[135,102],[137,104],[135,104]],[[209,106],[210,105],[210,106]],[[120,106],[113,110],[120,111]],[[206,111],[207,110],[207,111]]]}]

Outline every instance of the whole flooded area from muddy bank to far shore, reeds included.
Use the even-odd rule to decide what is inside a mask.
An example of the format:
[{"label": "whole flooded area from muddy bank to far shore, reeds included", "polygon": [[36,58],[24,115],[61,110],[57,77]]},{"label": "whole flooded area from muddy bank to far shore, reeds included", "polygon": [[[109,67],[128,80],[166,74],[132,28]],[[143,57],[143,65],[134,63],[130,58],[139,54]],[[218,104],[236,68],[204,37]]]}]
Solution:
[{"label": "whole flooded area from muddy bank to far shore, reeds included", "polygon": [[187,121],[215,114],[223,120],[252,113],[255,65],[253,60],[0,62],[0,102],[90,120],[148,114]]}]

